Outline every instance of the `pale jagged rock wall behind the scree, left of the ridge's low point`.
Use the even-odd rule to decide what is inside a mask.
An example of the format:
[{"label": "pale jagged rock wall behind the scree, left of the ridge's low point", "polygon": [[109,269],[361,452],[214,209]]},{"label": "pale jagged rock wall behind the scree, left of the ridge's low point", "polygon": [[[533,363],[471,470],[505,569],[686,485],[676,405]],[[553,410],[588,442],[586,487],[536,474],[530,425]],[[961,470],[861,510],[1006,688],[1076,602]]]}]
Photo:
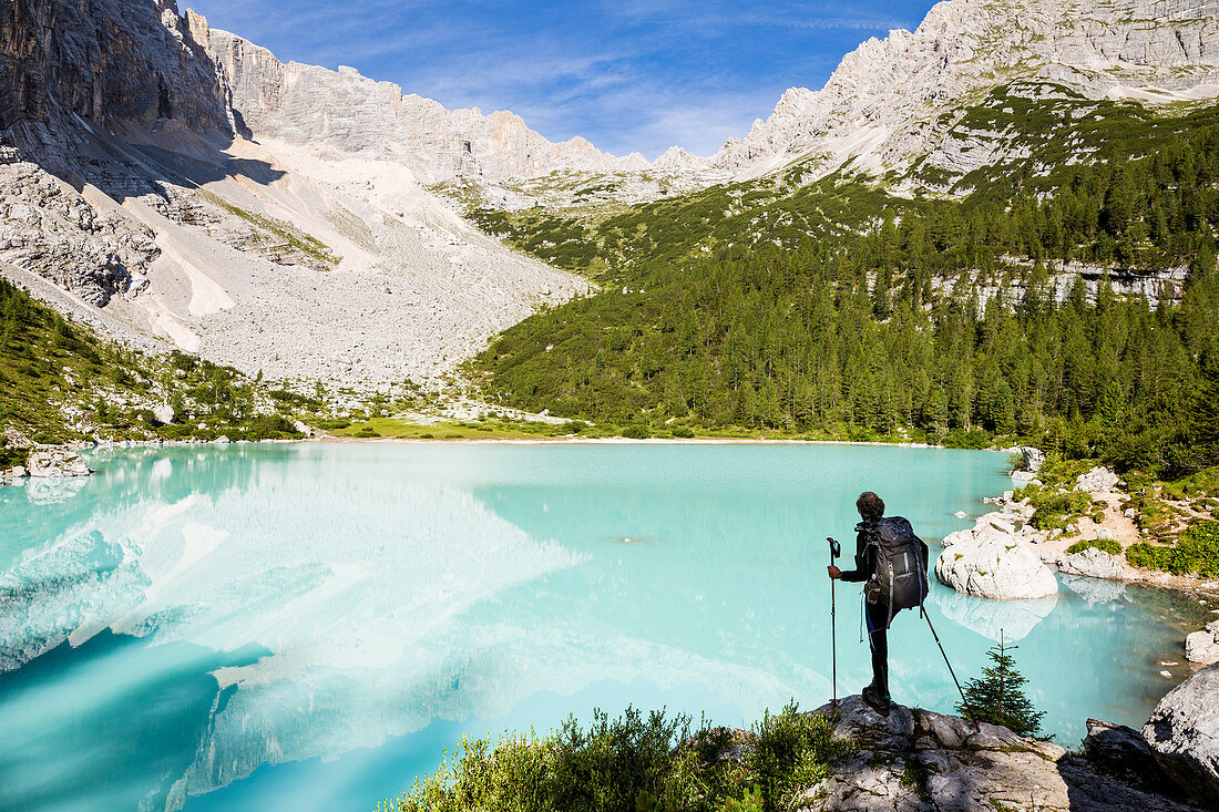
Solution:
[{"label": "pale jagged rock wall behind the scree, left of the ridge's low point", "polygon": [[[206,23],[200,18],[197,26],[202,30]],[[396,161],[427,182],[649,166],[639,154],[616,157],[583,138],[551,143],[508,111],[484,116],[477,107],[446,110],[432,99],[403,94],[390,82],[361,76],[355,68],[285,65],[267,49],[235,34],[217,29],[200,35],[216,61],[233,109],[260,138]]]}]

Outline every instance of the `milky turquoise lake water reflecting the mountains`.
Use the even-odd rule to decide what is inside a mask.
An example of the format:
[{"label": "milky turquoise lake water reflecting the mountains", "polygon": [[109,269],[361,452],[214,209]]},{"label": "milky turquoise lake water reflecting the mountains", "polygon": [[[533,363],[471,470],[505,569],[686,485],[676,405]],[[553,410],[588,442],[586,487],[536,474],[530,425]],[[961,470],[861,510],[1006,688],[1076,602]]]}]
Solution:
[{"label": "milky turquoise lake water reflecting the mountains", "polygon": [[[293,444],[115,450],[0,489],[0,808],[372,810],[462,733],[628,703],[747,725],[830,697],[826,535],[880,493],[926,539],[1006,456],[833,445]],[[629,539],[630,541],[625,541]],[[933,543],[933,555],[937,547]],[[933,579],[934,580],[934,579]],[[1046,728],[1141,724],[1170,602],[1101,582],[933,584],[962,679],[1000,629]],[[952,712],[917,613],[895,700]],[[839,693],[870,679],[837,589]],[[1178,655],[1179,658],[1179,655]]]}]

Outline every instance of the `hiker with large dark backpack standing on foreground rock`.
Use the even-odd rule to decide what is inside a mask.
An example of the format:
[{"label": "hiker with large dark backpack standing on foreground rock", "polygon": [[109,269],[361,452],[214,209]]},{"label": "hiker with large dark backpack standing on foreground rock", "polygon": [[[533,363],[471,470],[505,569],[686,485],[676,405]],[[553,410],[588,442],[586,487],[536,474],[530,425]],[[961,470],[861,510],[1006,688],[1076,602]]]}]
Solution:
[{"label": "hiker with large dark backpack standing on foreground rock", "polygon": [[864,617],[872,649],[872,684],[863,701],[889,714],[889,625],[903,608],[922,607],[926,597],[928,546],[900,516],[885,518],[885,502],[870,490],[855,502],[862,519],[855,525],[855,569],[833,563],[830,578],[864,582]]}]

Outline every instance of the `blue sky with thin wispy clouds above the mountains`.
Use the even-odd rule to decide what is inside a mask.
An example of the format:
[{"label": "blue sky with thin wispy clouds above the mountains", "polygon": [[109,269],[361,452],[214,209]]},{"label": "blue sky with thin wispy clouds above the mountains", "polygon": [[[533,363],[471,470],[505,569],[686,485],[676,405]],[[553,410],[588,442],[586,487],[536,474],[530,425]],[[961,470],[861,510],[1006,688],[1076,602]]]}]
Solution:
[{"label": "blue sky with thin wispy clouds above the mountains", "polygon": [[283,61],[350,65],[446,107],[511,110],[551,140],[708,155],[929,0],[179,0]]}]

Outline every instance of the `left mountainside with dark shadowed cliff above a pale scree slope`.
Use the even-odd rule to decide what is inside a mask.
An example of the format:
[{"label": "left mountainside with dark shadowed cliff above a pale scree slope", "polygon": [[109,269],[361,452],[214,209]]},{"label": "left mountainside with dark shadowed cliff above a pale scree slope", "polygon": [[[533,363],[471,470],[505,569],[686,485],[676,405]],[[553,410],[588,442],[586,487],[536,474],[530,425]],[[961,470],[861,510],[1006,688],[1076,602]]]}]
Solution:
[{"label": "left mountainside with dark shadowed cliff above a pale scree slope", "polygon": [[16,0],[0,23],[0,273],[112,338],[385,390],[588,289],[399,162],[249,140],[173,0]]}]

